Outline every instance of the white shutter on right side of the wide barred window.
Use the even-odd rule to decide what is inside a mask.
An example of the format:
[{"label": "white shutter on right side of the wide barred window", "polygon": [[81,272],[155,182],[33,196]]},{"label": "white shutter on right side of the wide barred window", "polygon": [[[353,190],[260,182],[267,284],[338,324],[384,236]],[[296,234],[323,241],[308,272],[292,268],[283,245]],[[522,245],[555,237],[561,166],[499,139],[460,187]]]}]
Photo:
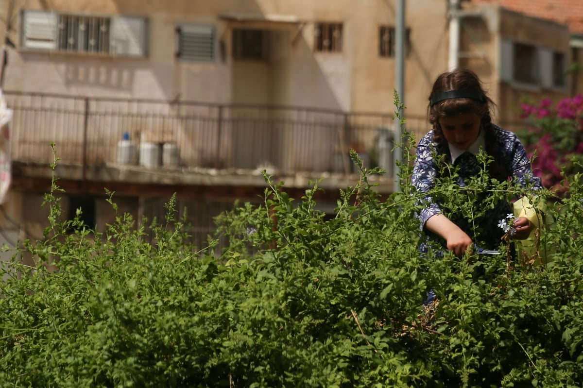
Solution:
[{"label": "white shutter on right side of the wide barred window", "polygon": [[145,57],[146,20],[143,17],[112,17],[111,52],[115,55]]}]

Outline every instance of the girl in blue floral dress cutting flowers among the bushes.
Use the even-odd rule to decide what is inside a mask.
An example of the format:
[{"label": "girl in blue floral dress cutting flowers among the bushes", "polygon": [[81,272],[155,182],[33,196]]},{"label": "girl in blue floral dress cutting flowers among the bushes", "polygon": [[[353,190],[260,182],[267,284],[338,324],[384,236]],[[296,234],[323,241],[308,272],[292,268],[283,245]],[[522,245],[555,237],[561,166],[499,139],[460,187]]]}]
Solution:
[{"label": "girl in blue floral dress cutting flowers among the bushes", "polygon": [[[420,140],[417,146],[412,184],[417,192],[427,193],[427,206],[419,213],[421,227],[431,236],[439,236],[444,245],[456,256],[473,247],[477,241],[476,227],[479,234],[480,248],[498,249],[504,230],[498,225],[508,213],[512,213],[510,203],[500,201],[494,209],[471,222],[456,214],[447,214],[443,209],[443,200],[428,193],[436,185],[440,174],[449,171],[445,165],[459,167],[459,185],[480,172],[481,167],[476,154],[482,149],[494,158],[487,165],[491,178],[503,182],[517,178],[518,184],[526,186],[531,182],[539,189],[540,178],[534,177],[526,152],[517,136],[491,122],[493,101],[486,95],[482,83],[475,73],[467,69],[456,69],[442,73],[433,84],[429,96],[428,119],[433,128]],[[440,157],[442,156],[442,158]],[[487,193],[478,196],[480,198]],[[445,214],[444,214],[445,213]],[[514,220],[515,239],[528,238],[535,223],[526,217]]]}]

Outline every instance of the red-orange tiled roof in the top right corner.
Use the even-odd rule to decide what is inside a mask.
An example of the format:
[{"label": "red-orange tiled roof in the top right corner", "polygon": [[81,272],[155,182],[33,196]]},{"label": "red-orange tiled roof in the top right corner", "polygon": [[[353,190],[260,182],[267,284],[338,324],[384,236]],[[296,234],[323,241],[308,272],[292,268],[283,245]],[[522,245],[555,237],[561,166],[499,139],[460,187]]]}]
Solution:
[{"label": "red-orange tiled roof in the top right corner", "polygon": [[525,15],[567,24],[571,34],[583,34],[583,0],[472,0],[498,4]]}]

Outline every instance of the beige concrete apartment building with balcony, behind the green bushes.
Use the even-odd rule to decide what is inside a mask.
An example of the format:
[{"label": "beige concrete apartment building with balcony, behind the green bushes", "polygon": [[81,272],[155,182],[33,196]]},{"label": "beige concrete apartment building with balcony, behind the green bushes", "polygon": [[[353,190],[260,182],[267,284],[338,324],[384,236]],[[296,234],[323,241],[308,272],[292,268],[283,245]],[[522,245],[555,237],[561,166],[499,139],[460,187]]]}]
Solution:
[{"label": "beige concrete apartment building with balcony, behind the green bushes", "polygon": [[[2,89],[15,111],[8,224],[38,238],[55,172],[64,214],[97,230],[120,211],[163,216],[178,195],[202,245],[212,217],[257,201],[262,169],[323,210],[356,182],[347,151],[393,188],[395,0],[0,0]],[[0,38],[2,38],[0,36]],[[519,98],[566,96],[568,27],[468,1],[406,2],[406,128],[422,135],[433,80],[474,69],[517,128]],[[8,213],[6,213],[8,214]],[[8,227],[7,224],[7,227]]]}]

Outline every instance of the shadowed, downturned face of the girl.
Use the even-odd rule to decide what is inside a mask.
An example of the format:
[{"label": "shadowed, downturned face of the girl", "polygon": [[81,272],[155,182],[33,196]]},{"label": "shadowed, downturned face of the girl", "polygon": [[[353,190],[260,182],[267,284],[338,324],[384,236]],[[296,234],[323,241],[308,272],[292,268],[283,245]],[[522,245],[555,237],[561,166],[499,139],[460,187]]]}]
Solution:
[{"label": "shadowed, downturned face of the girl", "polygon": [[439,125],[445,140],[461,150],[468,150],[480,134],[482,117],[475,113],[462,113],[439,118]]}]

